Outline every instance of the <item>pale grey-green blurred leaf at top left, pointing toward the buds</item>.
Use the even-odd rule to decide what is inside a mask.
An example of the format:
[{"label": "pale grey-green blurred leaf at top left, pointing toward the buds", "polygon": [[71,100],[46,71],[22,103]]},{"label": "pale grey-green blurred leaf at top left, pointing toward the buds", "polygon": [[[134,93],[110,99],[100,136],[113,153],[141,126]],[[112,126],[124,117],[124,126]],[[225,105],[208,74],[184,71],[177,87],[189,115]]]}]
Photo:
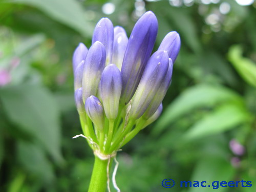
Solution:
[{"label": "pale grey-green blurred leaf at top left, pointing toward the buds", "polygon": [[88,22],[86,12],[75,0],[10,0],[8,2],[35,7],[86,37],[91,36],[93,32],[94,27]]}]

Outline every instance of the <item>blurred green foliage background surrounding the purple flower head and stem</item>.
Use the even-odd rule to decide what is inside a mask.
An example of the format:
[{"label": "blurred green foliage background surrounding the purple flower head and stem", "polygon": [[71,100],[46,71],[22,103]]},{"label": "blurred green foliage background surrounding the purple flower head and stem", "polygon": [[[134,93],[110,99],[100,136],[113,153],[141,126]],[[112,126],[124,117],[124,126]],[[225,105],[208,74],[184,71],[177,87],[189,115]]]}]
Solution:
[{"label": "blurred green foliage background surrounding the purple flower head and stem", "polygon": [[[115,6],[109,15],[106,3]],[[256,191],[255,8],[233,0],[1,1],[0,191],[87,190],[93,153],[84,139],[72,140],[81,133],[72,54],[80,41],[90,47],[101,17],[130,34],[145,10],[158,18],[155,50],[171,30],[182,47],[163,114],[118,154],[118,186],[167,191],[165,178],[244,179],[252,187],[172,191]],[[243,154],[234,154],[232,139]]]}]

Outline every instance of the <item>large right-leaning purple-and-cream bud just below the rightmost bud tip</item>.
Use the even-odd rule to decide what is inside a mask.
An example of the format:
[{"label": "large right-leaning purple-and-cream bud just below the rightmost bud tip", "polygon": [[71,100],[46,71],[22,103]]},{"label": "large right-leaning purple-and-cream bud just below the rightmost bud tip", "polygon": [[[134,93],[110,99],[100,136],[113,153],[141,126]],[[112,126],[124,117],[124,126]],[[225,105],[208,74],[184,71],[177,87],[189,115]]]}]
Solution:
[{"label": "large right-leaning purple-and-cream bud just below the rightmost bud tip", "polygon": [[[147,110],[148,106],[150,106],[152,99],[155,97],[159,87],[163,83],[164,77],[168,70],[168,66],[168,54],[163,50],[155,52],[151,56],[150,60],[148,60],[138,89],[136,90],[132,99],[130,117],[135,119],[140,118]],[[157,105],[157,108],[160,103]]]}]

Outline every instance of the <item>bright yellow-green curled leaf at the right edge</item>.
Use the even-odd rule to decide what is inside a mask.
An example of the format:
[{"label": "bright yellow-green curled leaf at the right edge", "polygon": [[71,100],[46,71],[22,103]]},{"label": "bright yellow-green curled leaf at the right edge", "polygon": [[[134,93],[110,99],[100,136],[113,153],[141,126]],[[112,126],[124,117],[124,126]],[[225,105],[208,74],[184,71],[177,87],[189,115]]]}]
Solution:
[{"label": "bright yellow-green curled leaf at the right edge", "polygon": [[247,83],[256,87],[256,65],[242,54],[241,46],[232,46],[228,51],[229,61]]}]

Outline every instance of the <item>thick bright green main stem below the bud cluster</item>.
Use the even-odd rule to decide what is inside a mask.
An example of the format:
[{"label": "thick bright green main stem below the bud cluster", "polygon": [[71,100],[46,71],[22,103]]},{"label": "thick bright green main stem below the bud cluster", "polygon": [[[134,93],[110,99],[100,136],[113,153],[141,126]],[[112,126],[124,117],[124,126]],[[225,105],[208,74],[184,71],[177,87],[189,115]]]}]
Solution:
[{"label": "thick bright green main stem below the bud cluster", "polygon": [[101,160],[95,156],[93,173],[92,173],[88,192],[105,192],[106,191],[106,182],[108,181],[107,172],[106,172],[107,167],[108,167],[108,160]]}]

